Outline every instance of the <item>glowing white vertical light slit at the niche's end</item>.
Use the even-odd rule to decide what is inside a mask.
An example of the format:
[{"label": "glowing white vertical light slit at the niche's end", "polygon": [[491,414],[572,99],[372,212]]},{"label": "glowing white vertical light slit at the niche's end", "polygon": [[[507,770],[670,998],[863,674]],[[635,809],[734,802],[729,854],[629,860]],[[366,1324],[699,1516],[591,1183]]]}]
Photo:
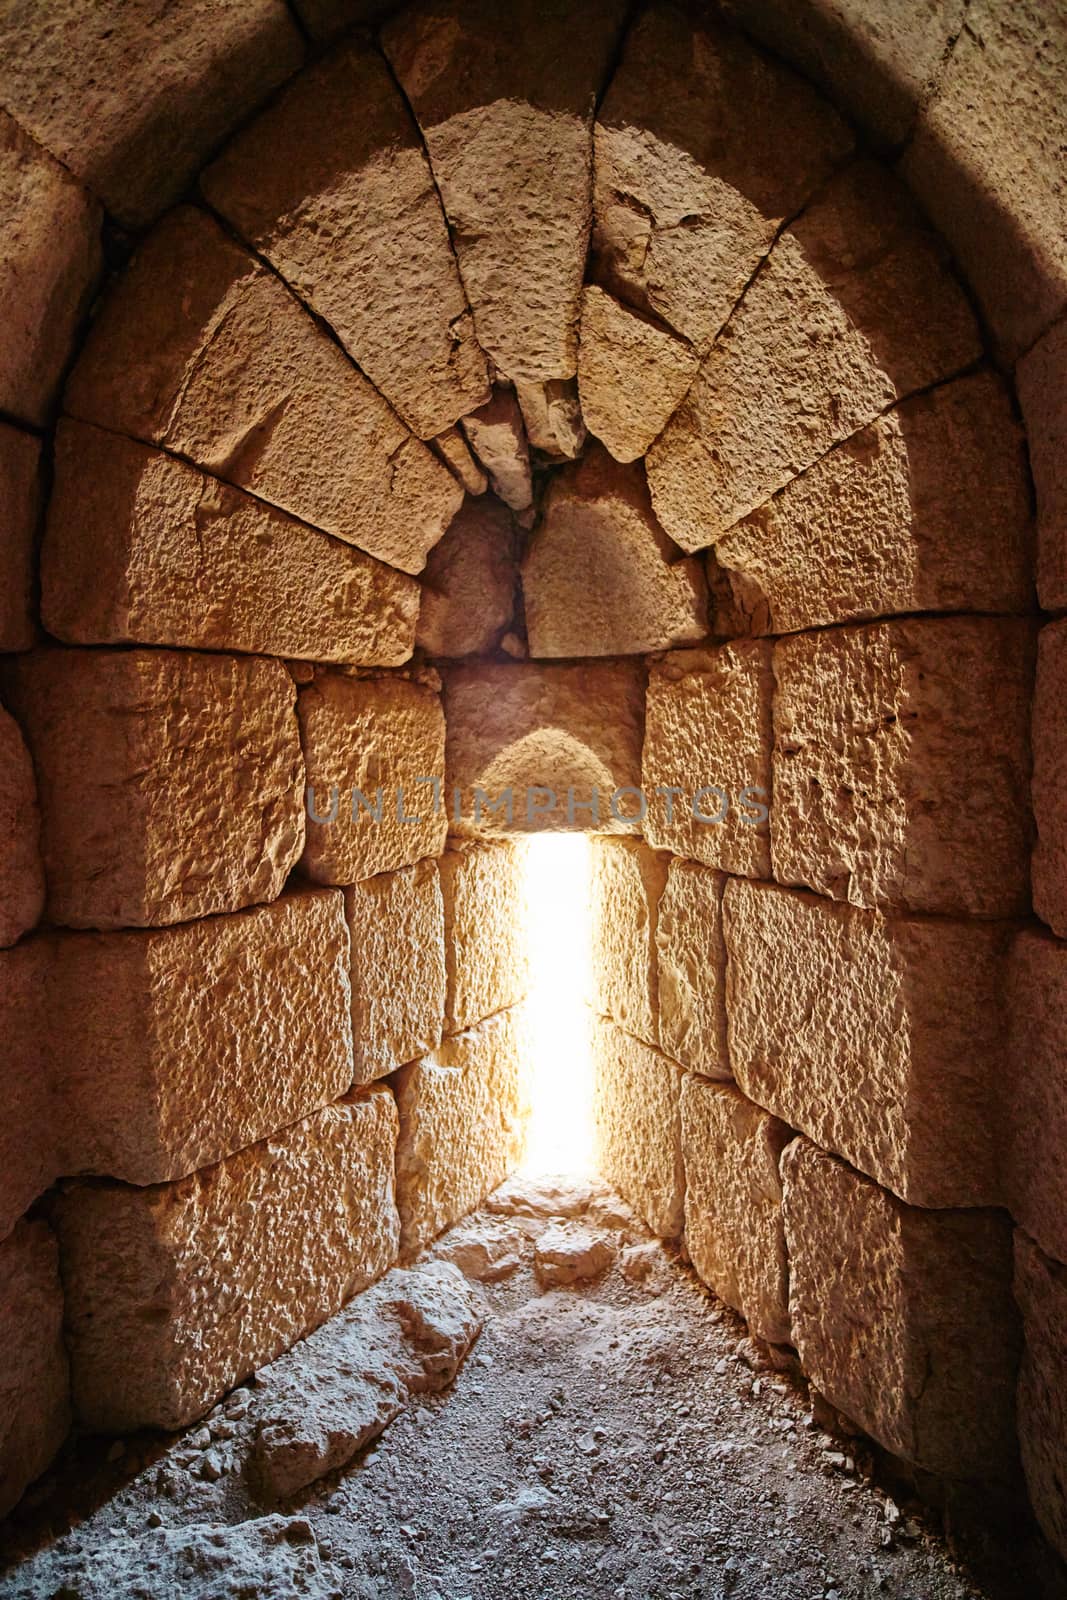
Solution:
[{"label": "glowing white vertical light slit at the niche's end", "polygon": [[533,1115],[523,1173],[592,1173],[590,853],[584,834],[526,840]]}]

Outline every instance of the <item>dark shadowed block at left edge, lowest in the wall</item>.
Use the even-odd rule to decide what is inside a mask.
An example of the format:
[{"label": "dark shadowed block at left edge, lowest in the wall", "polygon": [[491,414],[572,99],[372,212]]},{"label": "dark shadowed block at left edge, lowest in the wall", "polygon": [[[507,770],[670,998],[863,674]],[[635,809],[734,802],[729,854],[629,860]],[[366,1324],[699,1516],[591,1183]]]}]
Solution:
[{"label": "dark shadowed block at left edge, lowest in the wall", "polygon": [[46,1222],[19,1222],[0,1243],[0,1515],[6,1515],[70,1426],[62,1285]]}]

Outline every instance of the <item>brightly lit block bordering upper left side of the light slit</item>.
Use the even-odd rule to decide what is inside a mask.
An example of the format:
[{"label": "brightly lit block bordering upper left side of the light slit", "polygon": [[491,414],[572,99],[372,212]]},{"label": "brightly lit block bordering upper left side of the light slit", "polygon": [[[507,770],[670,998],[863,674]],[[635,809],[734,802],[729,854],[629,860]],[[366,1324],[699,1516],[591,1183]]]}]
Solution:
[{"label": "brightly lit block bordering upper left side of the light slit", "polygon": [[458,1034],[523,1000],[526,858],[522,845],[461,843],[438,861],[445,896],[445,1027]]}]

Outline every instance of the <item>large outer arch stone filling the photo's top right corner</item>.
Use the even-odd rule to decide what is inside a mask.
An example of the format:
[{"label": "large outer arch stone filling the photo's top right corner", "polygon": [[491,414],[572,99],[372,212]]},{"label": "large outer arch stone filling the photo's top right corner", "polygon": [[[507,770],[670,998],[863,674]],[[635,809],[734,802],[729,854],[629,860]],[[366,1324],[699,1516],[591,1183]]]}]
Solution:
[{"label": "large outer arch stone filling the photo's top right corner", "polygon": [[902,160],[1009,355],[1067,304],[1064,72],[1059,6],[974,0]]}]

